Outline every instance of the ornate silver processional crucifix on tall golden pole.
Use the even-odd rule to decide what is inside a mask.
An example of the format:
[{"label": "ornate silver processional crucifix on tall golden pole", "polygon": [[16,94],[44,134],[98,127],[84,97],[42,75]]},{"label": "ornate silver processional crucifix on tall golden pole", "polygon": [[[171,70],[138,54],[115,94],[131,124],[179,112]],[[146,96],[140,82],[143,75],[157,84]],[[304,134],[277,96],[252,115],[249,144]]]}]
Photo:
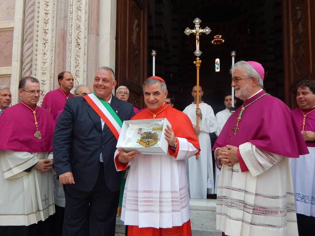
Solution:
[{"label": "ornate silver processional crucifix on tall golden pole", "polygon": [[[196,61],[194,61],[193,63],[196,65],[196,69],[197,69],[197,108],[199,107],[199,68],[200,68],[200,64],[201,64],[201,60],[199,59],[199,56],[201,55],[201,51],[199,50],[199,35],[201,33],[205,33],[205,34],[209,34],[211,32],[210,28],[207,26],[204,29],[200,28],[200,23],[201,20],[199,18],[196,18],[194,21],[195,23],[195,28],[193,30],[189,29],[188,27],[185,29],[184,33],[188,36],[191,33],[193,33],[194,35],[196,35],[196,51],[194,52],[196,58]],[[199,127],[199,118],[198,115],[196,116],[196,126]],[[197,135],[198,138],[198,135]],[[198,159],[198,155],[196,155],[196,159]]]}]

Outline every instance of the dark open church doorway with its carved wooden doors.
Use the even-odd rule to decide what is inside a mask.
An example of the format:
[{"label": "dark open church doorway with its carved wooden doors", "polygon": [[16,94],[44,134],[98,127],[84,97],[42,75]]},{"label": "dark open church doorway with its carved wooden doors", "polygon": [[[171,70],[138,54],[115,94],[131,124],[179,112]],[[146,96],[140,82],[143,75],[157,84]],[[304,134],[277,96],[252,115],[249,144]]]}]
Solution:
[{"label": "dark open church doorway with its carved wooden doors", "polygon": [[[154,49],[155,73],[175,95],[175,108],[183,110],[192,102],[191,90],[196,84],[196,37],[186,36],[184,30],[193,29],[193,20],[198,17],[202,29],[211,29],[209,35],[200,36],[200,85],[203,100],[215,113],[224,108],[223,96],[231,89],[232,50],[236,51],[235,62],[260,62],[266,72],[266,91],[293,108],[291,83],[315,78],[312,10],[314,3],[296,0],[117,1],[118,85],[130,87],[130,102],[144,107],[141,85],[152,75]],[[213,44],[216,35],[224,42]],[[219,72],[215,72],[217,58]]]}]

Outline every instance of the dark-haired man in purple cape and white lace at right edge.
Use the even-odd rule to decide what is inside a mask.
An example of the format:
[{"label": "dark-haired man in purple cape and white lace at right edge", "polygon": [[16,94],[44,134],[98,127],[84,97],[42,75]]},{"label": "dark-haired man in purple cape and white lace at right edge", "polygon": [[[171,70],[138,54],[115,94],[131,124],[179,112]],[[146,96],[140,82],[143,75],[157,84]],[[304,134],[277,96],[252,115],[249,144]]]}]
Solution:
[{"label": "dark-haired man in purple cape and white lace at right edge", "polygon": [[299,235],[307,235],[315,225],[315,81],[297,84],[296,102],[292,110],[309,154],[290,159]]}]

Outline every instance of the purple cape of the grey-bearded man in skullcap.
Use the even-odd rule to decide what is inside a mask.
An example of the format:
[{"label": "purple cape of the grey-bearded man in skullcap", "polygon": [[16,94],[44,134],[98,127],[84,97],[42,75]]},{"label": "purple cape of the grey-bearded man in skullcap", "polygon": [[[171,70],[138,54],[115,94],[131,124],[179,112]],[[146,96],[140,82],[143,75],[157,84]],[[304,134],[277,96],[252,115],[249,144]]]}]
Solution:
[{"label": "purple cape of the grey-bearded man in skullcap", "polygon": [[[265,93],[262,90],[243,101],[243,106]],[[291,158],[309,153],[292,111],[280,99],[266,95],[249,105],[243,111],[239,130],[233,135],[241,109],[239,107],[226,121],[212,150],[250,142],[267,152]]]}]

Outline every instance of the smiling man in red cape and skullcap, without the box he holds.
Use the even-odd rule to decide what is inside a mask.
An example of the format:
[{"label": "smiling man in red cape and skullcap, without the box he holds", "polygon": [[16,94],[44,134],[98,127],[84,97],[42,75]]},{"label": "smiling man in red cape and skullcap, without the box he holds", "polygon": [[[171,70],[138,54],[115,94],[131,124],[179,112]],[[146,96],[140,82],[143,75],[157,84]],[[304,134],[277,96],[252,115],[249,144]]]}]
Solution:
[{"label": "smiling man in red cape and skullcap, without the box he holds", "polygon": [[152,76],[143,84],[147,109],[131,120],[167,118],[167,155],[142,155],[136,150],[115,153],[117,171],[130,163],[121,219],[128,225],[128,236],[191,234],[189,196],[185,159],[200,151],[192,123],[183,112],[165,103],[164,80]]}]

